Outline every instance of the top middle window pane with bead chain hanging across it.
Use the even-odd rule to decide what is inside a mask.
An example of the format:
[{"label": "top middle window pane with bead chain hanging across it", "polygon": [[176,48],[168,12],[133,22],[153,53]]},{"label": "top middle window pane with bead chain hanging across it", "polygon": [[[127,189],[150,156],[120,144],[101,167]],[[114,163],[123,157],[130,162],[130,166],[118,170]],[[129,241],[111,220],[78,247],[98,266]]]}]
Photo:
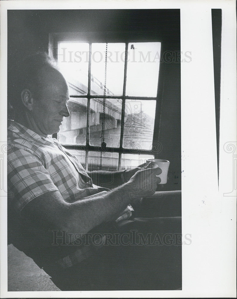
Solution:
[{"label": "top middle window pane with bead chain hanging across it", "polygon": [[[91,94],[104,94],[105,43],[91,45]],[[106,95],[123,94],[125,43],[108,43]]]}]

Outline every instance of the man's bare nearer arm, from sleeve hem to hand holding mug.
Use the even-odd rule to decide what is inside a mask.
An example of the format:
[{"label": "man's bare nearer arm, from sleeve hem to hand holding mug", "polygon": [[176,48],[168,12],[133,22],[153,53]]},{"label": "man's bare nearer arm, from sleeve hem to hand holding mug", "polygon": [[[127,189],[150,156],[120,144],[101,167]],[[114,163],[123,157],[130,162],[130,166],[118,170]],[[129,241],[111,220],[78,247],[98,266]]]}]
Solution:
[{"label": "man's bare nearer arm, from sleeve hem to hand holding mug", "polygon": [[47,192],[29,202],[22,216],[45,223],[51,230],[85,234],[102,222],[115,220],[133,198],[153,194],[160,173],[160,168],[139,170],[128,183],[73,203],[65,202],[59,191]]}]

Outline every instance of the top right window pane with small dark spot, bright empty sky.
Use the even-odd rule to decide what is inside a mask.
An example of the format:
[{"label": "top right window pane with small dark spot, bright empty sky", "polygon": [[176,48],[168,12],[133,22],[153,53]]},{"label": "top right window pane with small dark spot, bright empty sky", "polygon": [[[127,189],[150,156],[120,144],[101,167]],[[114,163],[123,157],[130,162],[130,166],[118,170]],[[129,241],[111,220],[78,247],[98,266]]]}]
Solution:
[{"label": "top right window pane with small dark spot, bright empty sky", "polygon": [[156,97],[160,47],[160,42],[128,44],[126,95]]}]

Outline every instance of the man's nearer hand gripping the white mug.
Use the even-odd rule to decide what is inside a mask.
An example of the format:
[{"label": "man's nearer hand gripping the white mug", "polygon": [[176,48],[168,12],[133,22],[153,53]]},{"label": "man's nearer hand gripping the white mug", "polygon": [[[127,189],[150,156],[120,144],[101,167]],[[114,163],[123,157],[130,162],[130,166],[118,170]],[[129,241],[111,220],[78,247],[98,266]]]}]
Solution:
[{"label": "man's nearer hand gripping the white mug", "polygon": [[157,189],[157,184],[160,183],[158,175],[162,173],[159,167],[149,168],[151,163],[136,171],[130,178],[127,184],[133,189],[132,196],[147,196],[153,195]]}]

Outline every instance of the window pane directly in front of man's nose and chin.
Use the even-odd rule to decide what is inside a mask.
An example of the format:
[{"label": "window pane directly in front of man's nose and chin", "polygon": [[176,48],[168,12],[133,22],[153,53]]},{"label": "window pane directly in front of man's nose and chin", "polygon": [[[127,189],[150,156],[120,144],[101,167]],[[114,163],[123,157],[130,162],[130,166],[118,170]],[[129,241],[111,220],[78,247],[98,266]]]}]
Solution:
[{"label": "window pane directly in front of man's nose and chin", "polygon": [[59,131],[59,142],[85,145],[87,99],[71,97],[67,105],[70,116],[63,118]]}]

